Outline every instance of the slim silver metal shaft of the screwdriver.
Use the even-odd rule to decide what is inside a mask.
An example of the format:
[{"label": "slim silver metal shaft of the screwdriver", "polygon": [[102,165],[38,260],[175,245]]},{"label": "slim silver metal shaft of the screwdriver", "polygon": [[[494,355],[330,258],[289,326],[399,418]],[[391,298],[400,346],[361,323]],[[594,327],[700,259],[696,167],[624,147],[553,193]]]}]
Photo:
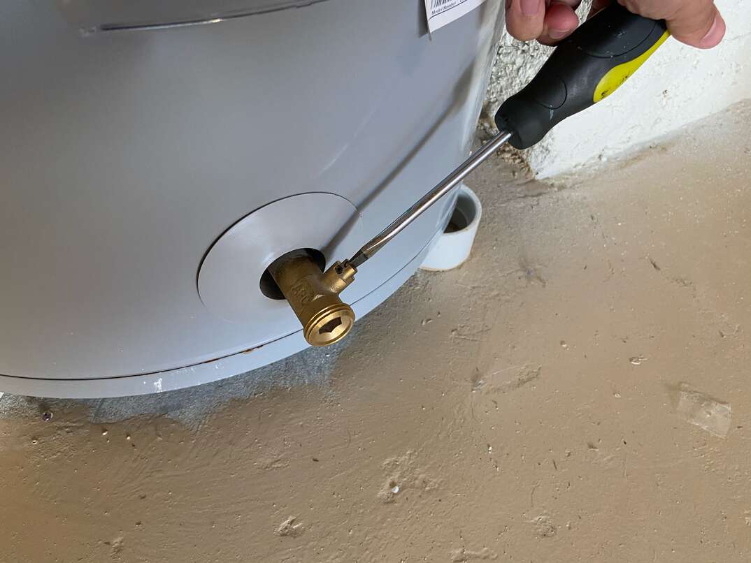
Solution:
[{"label": "slim silver metal shaft of the screwdriver", "polygon": [[448,192],[466,178],[472,170],[475,170],[475,168],[482,164],[493,154],[493,152],[496,152],[500,146],[511,138],[511,135],[512,134],[508,131],[499,131],[495,137],[481,146],[480,149],[473,152],[466,161],[454,170],[454,172],[442,179],[436,187],[421,197],[415,205],[403,212],[393,223],[366,242],[353,257],[347,260],[347,263],[357,268],[366,260],[372,258],[373,254],[383,248],[387,242],[394,238],[394,236],[401,233],[410,223],[412,223],[412,221],[415,221],[416,218],[430,209],[430,206],[433,206],[433,203],[436,203],[441,197],[448,194]]}]

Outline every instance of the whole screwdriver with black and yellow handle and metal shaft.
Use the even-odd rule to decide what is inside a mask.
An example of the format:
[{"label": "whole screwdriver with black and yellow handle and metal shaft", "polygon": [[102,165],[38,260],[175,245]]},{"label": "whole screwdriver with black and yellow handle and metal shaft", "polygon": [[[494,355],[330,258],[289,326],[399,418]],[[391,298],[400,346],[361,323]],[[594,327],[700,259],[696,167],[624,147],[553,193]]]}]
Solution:
[{"label": "whole screwdriver with black and yellow handle and metal shaft", "polygon": [[665,20],[632,14],[617,2],[599,11],[553,50],[527,86],[501,104],[495,116],[498,134],[342,265],[357,271],[505,143],[528,149],[563,119],[607,98],[669,35]]}]

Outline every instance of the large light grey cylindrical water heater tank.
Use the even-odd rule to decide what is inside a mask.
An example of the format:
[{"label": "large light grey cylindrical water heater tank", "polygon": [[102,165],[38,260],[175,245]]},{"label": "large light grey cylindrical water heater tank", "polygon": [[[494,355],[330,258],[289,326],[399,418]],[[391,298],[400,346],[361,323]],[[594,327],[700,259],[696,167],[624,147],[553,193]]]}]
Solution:
[{"label": "large light grey cylindrical water heater tank", "polygon": [[[463,161],[499,2],[0,4],[0,390],[152,393],[306,346],[267,266],[351,255]],[[454,194],[455,197],[455,194]],[[358,318],[453,197],[363,265]]]}]

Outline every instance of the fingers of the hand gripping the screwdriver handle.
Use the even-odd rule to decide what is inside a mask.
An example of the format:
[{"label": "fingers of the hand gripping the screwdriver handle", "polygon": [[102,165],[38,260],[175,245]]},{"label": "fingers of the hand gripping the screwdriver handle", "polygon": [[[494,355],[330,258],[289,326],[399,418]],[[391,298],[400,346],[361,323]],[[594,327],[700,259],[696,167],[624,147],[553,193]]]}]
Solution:
[{"label": "fingers of the hand gripping the screwdriver handle", "polygon": [[[581,0],[505,0],[506,27],[521,41],[536,39],[553,45],[579,25],[575,14]],[[722,41],[725,20],[713,0],[617,0],[634,14],[666,20],[668,30],[681,43],[710,49]],[[594,0],[590,16],[610,0]]]}]

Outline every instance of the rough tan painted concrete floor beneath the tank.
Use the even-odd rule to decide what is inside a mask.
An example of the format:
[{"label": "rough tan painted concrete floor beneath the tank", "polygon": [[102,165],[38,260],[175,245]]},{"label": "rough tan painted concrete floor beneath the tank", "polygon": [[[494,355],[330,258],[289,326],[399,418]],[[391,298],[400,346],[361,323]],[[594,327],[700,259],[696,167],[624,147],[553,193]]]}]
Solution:
[{"label": "rough tan painted concrete floor beneath the tank", "polygon": [[748,561],[749,125],[555,184],[490,162],[469,262],[333,350],[2,397],[0,561]]}]

